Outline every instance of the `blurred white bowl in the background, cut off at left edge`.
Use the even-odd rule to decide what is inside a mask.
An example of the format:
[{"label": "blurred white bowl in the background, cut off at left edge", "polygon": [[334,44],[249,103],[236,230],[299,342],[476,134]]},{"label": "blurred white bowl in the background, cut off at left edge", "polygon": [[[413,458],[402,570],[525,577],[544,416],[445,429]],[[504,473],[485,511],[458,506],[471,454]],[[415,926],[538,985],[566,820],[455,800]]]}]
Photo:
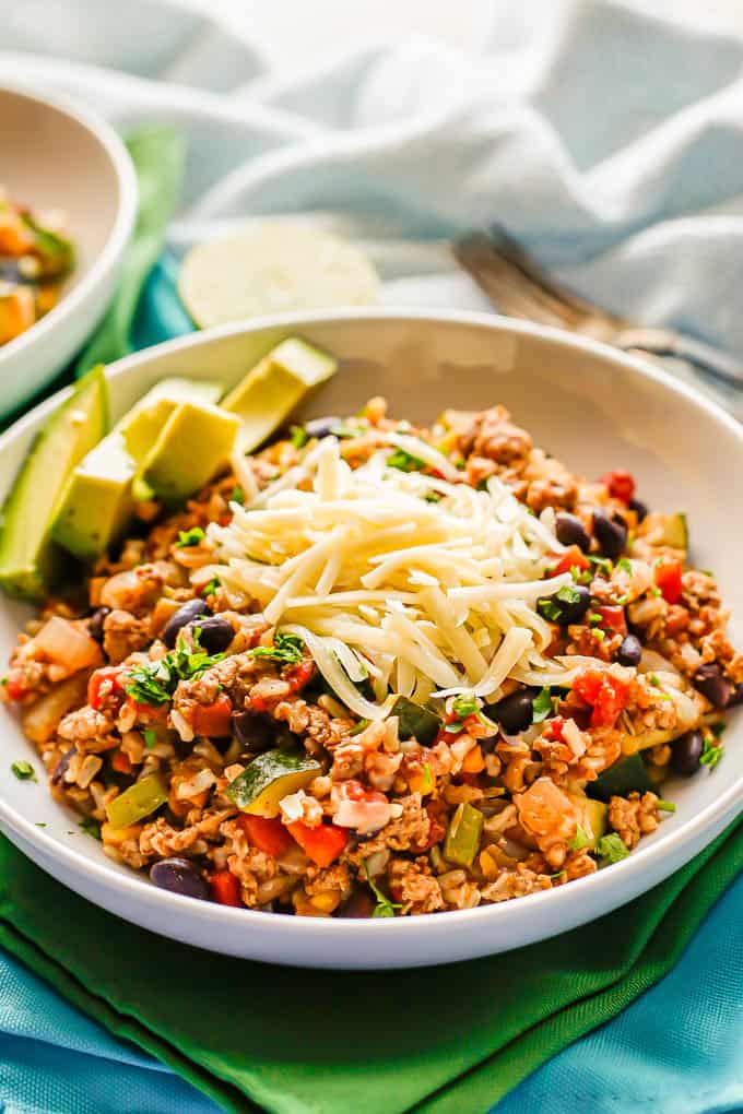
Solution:
[{"label": "blurred white bowl in the background, cut off at left edge", "polygon": [[0,186],[33,208],[62,209],[75,272],[55,309],[0,345],[0,414],[45,387],[104,315],[137,215],[137,179],[116,133],[69,101],[0,88]]}]

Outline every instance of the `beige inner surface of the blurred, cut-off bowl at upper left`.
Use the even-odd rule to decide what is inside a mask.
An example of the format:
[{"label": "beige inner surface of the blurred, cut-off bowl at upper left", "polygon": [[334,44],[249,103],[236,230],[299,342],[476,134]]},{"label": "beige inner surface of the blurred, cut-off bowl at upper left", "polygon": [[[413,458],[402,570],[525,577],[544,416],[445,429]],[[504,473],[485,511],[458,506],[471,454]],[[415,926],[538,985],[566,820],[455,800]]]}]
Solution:
[{"label": "beige inner surface of the blurred, cut-off bowl at upper left", "polygon": [[109,153],[75,116],[25,92],[0,89],[0,186],[13,201],[61,209],[77,252],[66,289],[78,285],[102,252],[120,205]]}]

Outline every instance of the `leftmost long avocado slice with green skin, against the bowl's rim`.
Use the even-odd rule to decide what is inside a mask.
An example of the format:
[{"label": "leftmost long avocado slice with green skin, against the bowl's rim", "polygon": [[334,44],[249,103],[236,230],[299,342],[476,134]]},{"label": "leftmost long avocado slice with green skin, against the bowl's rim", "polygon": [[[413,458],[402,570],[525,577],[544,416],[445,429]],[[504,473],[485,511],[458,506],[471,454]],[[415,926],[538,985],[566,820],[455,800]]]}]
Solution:
[{"label": "leftmost long avocado slice with green skin, against the bowl's rim", "polygon": [[37,436],[2,509],[0,584],[13,596],[42,599],[63,555],[51,524],[65,483],[108,429],[108,387],[102,365],[76,384]]}]

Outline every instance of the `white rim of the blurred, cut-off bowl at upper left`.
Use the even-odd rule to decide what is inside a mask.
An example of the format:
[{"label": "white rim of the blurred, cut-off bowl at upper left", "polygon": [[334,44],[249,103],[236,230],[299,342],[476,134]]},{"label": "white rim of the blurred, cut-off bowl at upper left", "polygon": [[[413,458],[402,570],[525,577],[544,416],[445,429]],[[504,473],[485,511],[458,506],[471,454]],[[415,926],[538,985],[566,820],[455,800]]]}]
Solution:
[{"label": "white rim of the blurred, cut-off bowl at upper left", "polygon": [[23,81],[3,82],[0,85],[0,96],[3,94],[35,101],[42,108],[51,108],[85,128],[102,148],[114,168],[119,187],[119,201],[106,243],[91,261],[87,274],[68,293],[63,294],[40,321],[37,321],[13,340],[0,345],[0,371],[2,371],[4,361],[31,348],[37,341],[50,334],[66,316],[74,315],[91,292],[105,282],[118,264],[131,238],[139,206],[139,187],[131,157],[120,136],[102,117],[89,111],[88,108],[77,104],[66,95],[55,92],[52,96],[47,96],[46,92],[41,94]]}]

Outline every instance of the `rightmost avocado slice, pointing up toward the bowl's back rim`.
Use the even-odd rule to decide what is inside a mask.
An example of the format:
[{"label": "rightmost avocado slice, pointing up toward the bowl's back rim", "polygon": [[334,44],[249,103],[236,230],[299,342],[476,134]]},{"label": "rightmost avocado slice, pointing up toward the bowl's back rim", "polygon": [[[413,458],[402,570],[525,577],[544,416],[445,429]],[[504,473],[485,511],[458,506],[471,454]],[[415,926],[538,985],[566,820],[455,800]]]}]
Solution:
[{"label": "rightmost avocado slice, pointing up toward the bowl's back rim", "polygon": [[299,338],[268,352],[222,402],[243,420],[245,452],[265,441],[313,387],[336,371],[338,360]]}]

